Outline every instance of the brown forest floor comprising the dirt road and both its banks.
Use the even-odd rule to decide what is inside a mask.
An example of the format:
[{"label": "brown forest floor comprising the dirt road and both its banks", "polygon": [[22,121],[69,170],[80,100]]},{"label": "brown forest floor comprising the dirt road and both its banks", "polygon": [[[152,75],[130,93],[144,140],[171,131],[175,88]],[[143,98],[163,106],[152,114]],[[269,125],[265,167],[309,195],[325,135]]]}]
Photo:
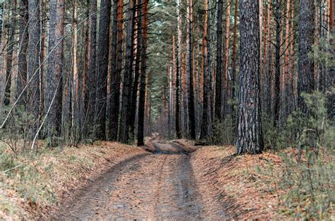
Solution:
[{"label": "brown forest floor comprising the dirt road and both its banks", "polygon": [[[43,177],[47,170],[38,167],[42,171],[41,182],[50,180],[45,186],[51,186],[49,191],[54,192],[57,199],[52,203],[38,199],[27,202],[24,196],[18,196],[18,188],[8,191],[8,185],[7,189],[0,186],[0,196],[27,211],[8,212],[8,206],[4,210],[0,205],[0,217],[13,220],[21,217],[27,220],[240,220],[276,216],[278,193],[266,191],[272,185],[266,186],[262,182],[264,177],[254,168],[265,166],[269,161],[280,163],[278,156],[270,153],[234,156],[231,146],[196,147],[190,141],[168,142],[159,137],[150,138],[146,143],[146,148],[102,142],[94,147],[65,150],[66,153],[61,153],[64,157],[78,154],[76,163],[52,158],[58,166],[52,170],[51,177]],[[86,164],[87,161],[90,164]],[[43,165],[49,165],[46,162]],[[6,183],[12,186],[18,181],[16,178],[8,180]]]}]

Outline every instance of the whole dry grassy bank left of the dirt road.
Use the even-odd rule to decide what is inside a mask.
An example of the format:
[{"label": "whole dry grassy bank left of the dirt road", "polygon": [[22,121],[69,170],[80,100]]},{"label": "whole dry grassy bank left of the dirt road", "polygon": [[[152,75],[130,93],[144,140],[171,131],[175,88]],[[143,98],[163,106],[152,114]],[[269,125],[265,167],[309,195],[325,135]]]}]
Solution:
[{"label": "whole dry grassy bank left of the dirt road", "polygon": [[97,142],[47,150],[38,156],[15,157],[11,160],[14,167],[0,173],[0,220],[47,216],[50,208],[112,165],[143,153],[143,149],[134,146]]}]

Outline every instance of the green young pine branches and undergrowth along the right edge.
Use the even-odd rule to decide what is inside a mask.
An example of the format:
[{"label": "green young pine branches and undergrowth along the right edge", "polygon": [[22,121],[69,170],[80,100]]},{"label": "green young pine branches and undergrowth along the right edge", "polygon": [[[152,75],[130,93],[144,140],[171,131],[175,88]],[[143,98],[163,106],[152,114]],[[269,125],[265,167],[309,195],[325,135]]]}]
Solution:
[{"label": "green young pine branches and undergrowth along the right edge", "polygon": [[[335,126],[327,118],[327,97],[322,92],[302,97],[307,113],[290,114],[281,131],[264,124],[266,143],[282,149],[284,161],[280,178],[272,169],[267,173],[285,192],[280,197],[282,215],[299,220],[329,219],[335,203]],[[283,150],[288,147],[293,149]]]}]

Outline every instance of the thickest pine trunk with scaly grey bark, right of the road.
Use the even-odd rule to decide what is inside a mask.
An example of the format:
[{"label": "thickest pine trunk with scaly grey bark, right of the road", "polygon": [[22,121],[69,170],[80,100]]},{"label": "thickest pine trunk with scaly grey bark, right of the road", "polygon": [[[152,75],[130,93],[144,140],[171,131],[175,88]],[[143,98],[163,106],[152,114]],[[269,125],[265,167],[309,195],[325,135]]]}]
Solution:
[{"label": "thickest pine trunk with scaly grey bark, right of the road", "polygon": [[238,100],[237,154],[261,153],[259,88],[259,0],[240,1],[240,92]]}]

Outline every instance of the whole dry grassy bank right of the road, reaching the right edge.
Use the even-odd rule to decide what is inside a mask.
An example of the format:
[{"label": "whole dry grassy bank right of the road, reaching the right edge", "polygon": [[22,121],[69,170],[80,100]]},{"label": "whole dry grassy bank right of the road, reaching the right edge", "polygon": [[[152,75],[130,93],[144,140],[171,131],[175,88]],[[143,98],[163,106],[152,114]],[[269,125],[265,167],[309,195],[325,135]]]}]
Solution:
[{"label": "whole dry grassy bank right of the road, reaching the right edge", "polygon": [[[192,155],[192,167],[199,184],[199,192],[204,199],[216,197],[229,217],[237,220],[289,218],[300,220],[302,217],[308,220],[316,217],[317,219],[334,217],[332,206],[327,211],[308,210],[312,203],[308,191],[305,192],[305,189],[308,190],[308,185],[299,187],[306,182],[306,177],[301,176],[302,169],[305,169],[304,163],[307,161],[305,153],[302,154],[301,166],[295,161],[298,155],[297,148],[281,150],[280,154],[264,152],[260,155],[234,155],[234,153],[233,146],[208,146]],[[292,165],[286,162],[285,159],[288,158]],[[331,165],[335,160],[334,155],[327,154],[324,148],[319,151],[319,159],[324,165],[321,169],[331,168],[325,165]],[[331,171],[324,172],[331,174]],[[324,199],[327,196],[324,196],[326,190],[322,190],[322,186],[330,185],[328,192],[334,193],[331,177],[327,181],[329,184],[326,181],[312,181],[315,188],[315,203],[319,203],[317,207],[324,203],[317,201],[317,198],[331,201],[331,197]],[[296,189],[301,191],[298,192]],[[295,194],[301,194],[298,196],[300,201]],[[330,203],[334,205],[334,201]]]}]

